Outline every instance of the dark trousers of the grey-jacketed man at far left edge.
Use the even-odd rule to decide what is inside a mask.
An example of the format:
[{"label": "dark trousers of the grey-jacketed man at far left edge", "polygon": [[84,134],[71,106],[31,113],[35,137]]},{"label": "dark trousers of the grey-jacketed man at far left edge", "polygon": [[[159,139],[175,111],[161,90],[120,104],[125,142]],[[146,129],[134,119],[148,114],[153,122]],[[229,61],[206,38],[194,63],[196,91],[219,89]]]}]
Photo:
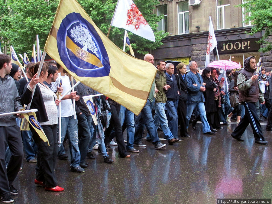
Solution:
[{"label": "dark trousers of the grey-jacketed man at far left edge", "polygon": [[[5,152],[7,144],[11,157],[6,169]],[[9,186],[15,180],[23,162],[23,143],[17,125],[0,127],[0,196],[10,192]]]}]

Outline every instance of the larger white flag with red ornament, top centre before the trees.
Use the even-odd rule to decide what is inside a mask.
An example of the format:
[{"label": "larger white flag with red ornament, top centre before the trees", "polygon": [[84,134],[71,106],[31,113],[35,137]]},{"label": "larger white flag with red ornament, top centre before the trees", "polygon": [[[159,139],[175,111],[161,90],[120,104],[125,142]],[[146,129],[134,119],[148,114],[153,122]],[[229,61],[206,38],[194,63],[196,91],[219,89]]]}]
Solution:
[{"label": "larger white flag with red ornament, top centre before the trees", "polygon": [[118,0],[111,25],[155,42],[153,30],[131,0]]}]

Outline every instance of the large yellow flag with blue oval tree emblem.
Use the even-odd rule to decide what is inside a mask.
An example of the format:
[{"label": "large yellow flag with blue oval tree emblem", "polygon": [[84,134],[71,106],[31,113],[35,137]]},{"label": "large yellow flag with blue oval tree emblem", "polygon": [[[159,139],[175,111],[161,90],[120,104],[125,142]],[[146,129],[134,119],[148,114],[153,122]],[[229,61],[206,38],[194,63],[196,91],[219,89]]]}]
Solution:
[{"label": "large yellow flag with blue oval tree emblem", "polygon": [[155,67],[120,50],[76,0],[60,0],[44,50],[74,78],[136,115],[143,108]]}]

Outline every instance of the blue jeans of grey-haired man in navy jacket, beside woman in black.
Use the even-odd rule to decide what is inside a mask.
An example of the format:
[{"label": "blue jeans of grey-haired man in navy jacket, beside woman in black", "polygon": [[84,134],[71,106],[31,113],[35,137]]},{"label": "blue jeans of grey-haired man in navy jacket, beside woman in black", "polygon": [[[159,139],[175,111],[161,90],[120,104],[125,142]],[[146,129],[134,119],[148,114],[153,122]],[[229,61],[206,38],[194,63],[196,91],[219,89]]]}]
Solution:
[{"label": "blue jeans of grey-haired man in navy jacket, beside woman in black", "polygon": [[177,135],[177,128],[178,128],[178,115],[177,115],[177,107],[178,107],[179,101],[166,101],[166,116],[168,120],[168,127],[173,134],[174,138],[178,138]]}]

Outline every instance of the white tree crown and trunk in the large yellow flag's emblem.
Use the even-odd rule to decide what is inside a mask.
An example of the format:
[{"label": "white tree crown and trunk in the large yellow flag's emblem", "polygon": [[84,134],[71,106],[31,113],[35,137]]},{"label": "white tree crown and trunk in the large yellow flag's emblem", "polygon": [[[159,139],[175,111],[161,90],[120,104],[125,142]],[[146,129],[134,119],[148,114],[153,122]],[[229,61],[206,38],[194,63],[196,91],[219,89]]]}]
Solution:
[{"label": "white tree crown and trunk in the large yellow flag's emblem", "polygon": [[73,27],[70,32],[74,40],[83,46],[83,50],[87,52],[89,49],[99,58],[98,49],[87,28],[84,28],[82,25],[77,25]]}]

